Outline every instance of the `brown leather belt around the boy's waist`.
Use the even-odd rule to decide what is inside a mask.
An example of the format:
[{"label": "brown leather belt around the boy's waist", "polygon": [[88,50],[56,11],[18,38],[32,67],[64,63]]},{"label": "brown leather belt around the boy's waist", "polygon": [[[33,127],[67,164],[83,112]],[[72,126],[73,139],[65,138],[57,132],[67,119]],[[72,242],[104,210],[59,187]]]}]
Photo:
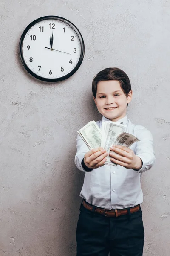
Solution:
[{"label": "brown leather belt around the boy's waist", "polygon": [[[86,203],[84,200],[83,200],[82,204],[89,211],[93,211],[94,207],[91,206],[90,204]],[[140,205],[138,204],[138,205],[136,205],[134,207],[131,207],[129,209],[130,209],[130,213],[137,212],[140,209]],[[119,217],[120,215],[128,214],[128,209],[107,210],[107,209],[102,209],[102,208],[99,208],[99,207],[95,206],[94,212],[105,215],[106,217]]]}]

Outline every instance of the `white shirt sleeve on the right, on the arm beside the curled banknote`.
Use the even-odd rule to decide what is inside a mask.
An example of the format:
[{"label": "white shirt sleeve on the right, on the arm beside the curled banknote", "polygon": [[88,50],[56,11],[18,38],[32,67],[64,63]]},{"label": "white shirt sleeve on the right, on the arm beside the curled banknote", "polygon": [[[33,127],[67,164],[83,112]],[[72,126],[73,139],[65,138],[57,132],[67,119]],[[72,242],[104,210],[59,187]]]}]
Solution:
[{"label": "white shirt sleeve on the right, on the arm beside the curled banknote", "polygon": [[136,172],[142,173],[149,170],[155,163],[153,136],[149,130],[141,126],[136,131],[136,137],[140,141],[136,143],[135,154],[140,157],[143,162],[141,169]]}]

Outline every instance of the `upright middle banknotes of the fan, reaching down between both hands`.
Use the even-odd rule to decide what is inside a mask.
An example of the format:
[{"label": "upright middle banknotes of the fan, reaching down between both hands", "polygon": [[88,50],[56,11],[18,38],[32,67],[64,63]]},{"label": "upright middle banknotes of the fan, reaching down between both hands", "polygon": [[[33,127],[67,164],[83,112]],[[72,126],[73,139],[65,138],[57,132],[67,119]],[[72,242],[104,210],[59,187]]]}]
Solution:
[{"label": "upright middle banknotes of the fan, reaching down between both hands", "polygon": [[118,122],[102,122],[102,142],[101,146],[108,152],[105,164],[116,166],[115,163],[111,162],[109,156],[110,148],[115,143],[116,138],[119,134],[122,134],[126,130],[126,125],[122,125]]}]

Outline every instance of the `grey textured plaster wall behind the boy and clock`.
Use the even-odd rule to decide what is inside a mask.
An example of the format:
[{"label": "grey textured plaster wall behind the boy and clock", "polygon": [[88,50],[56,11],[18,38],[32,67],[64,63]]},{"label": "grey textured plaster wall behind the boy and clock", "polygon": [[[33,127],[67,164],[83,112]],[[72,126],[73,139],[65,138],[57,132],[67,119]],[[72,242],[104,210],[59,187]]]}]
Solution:
[{"label": "grey textured plaster wall behind the boy and clock", "polygon": [[[45,15],[71,20],[85,58],[68,80],[25,72],[23,30]],[[91,81],[105,67],[130,77],[128,118],[147,127],[156,165],[142,175],[144,256],[170,255],[170,1],[0,2],[0,256],[75,256],[83,173],[74,165],[77,130],[100,118]]]}]

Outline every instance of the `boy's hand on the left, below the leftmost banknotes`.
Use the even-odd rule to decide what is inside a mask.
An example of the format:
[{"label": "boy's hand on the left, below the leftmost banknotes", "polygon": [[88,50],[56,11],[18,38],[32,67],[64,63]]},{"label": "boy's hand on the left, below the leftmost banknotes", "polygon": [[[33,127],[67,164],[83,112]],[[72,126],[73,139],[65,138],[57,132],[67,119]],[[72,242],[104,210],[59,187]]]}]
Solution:
[{"label": "boy's hand on the left, below the leftmost banknotes", "polygon": [[108,153],[102,147],[94,148],[85,154],[84,163],[88,168],[99,168],[105,163],[107,155]]}]

